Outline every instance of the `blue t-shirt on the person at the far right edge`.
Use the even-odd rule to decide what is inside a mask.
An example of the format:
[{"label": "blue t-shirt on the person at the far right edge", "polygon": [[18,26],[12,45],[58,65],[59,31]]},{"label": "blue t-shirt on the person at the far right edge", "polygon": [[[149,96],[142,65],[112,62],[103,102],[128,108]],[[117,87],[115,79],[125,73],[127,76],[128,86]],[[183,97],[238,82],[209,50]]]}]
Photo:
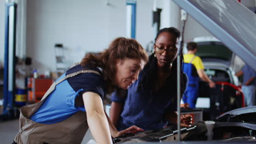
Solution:
[{"label": "blue t-shirt on the person at the far right edge", "polygon": [[254,80],[250,83],[250,85],[256,85],[256,73],[255,71],[249,67],[249,65],[245,65],[243,68],[242,68],[242,71],[243,71],[243,85],[245,85],[245,83],[251,79],[251,77],[254,77]]}]

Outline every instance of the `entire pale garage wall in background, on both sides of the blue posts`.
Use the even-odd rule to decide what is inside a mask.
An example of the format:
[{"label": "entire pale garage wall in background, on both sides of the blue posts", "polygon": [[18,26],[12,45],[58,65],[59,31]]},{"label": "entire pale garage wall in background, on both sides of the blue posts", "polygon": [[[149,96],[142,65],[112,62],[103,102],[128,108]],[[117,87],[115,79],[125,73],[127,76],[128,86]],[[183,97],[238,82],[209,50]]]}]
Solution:
[{"label": "entire pale garage wall in background, on both sides of the blue posts", "polygon": [[[248,5],[255,5],[250,0]],[[79,62],[86,52],[106,49],[110,41],[125,37],[125,0],[27,0],[26,53],[33,59],[33,68],[40,74],[55,70],[54,44],[65,46],[67,65]],[[158,7],[167,9],[167,0],[158,0]],[[243,1],[242,1],[243,2]],[[4,59],[4,3],[0,1],[0,64]],[[172,2],[171,2],[172,3]],[[171,4],[170,3],[170,4]],[[173,5],[170,5],[170,8]],[[152,27],[153,0],[137,1],[136,39],[143,47],[154,38]],[[164,11],[164,10],[163,10]],[[175,12],[176,11],[176,12]],[[162,16],[162,27],[177,25],[179,10]],[[178,26],[181,26],[179,24]],[[211,35],[193,18],[188,17],[185,40]]]}]

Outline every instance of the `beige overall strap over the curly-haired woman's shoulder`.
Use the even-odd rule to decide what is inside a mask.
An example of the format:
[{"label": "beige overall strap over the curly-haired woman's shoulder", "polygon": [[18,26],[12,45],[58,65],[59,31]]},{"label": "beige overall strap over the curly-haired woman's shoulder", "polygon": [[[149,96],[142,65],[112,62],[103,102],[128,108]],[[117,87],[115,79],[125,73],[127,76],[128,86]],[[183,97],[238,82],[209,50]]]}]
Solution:
[{"label": "beige overall strap over the curly-haired woman's shoulder", "polygon": [[[75,64],[72,65],[72,66],[74,67]],[[72,67],[71,67],[71,68],[72,68]],[[69,69],[70,69],[70,68],[69,68]],[[80,71],[76,71],[76,72],[74,72],[74,73],[68,74],[68,75],[66,75],[65,77],[63,77],[63,79],[61,79],[61,80],[59,80],[59,81],[57,81],[57,82],[55,81],[55,82],[50,86],[50,88],[48,89],[48,91],[44,94],[44,97],[41,99],[41,101],[44,100],[51,92],[53,92],[54,89],[55,89],[55,87],[56,87],[56,85],[58,85],[58,84],[61,83],[62,81],[65,81],[66,79],[68,79],[68,78],[70,78],[70,77],[73,77],[73,76],[76,76],[76,75],[79,75],[79,74],[84,74],[84,73],[95,73],[95,74],[101,75],[100,73],[98,73],[98,71],[90,70],[90,69],[88,69],[88,70],[80,70]]]}]

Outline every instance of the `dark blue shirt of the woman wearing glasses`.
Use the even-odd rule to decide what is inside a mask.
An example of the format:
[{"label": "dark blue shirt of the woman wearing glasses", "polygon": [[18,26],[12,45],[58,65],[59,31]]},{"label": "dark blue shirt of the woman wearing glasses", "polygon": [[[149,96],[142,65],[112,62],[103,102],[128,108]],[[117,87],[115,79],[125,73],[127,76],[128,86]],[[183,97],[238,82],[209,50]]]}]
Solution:
[{"label": "dark blue shirt of the woman wearing glasses", "polygon": [[[141,73],[142,74],[142,73]],[[118,130],[136,125],[144,130],[161,129],[167,124],[165,112],[177,110],[176,82],[168,81],[158,92],[149,89],[137,91],[141,74],[127,91],[127,97],[120,98],[116,92],[112,101],[124,104],[123,112],[118,119]],[[188,77],[184,74],[184,82]],[[186,85],[187,86],[187,85]]]}]

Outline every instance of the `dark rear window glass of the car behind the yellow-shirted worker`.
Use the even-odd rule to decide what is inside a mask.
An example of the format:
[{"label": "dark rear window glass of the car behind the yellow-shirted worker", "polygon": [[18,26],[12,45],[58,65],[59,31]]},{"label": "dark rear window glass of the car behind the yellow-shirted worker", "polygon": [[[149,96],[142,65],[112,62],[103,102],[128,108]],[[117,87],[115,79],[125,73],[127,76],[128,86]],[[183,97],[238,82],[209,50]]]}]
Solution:
[{"label": "dark rear window glass of the car behind the yellow-shirted worker", "polygon": [[219,41],[205,41],[197,43],[198,49],[196,55],[201,58],[219,58],[230,61],[232,51]]}]

